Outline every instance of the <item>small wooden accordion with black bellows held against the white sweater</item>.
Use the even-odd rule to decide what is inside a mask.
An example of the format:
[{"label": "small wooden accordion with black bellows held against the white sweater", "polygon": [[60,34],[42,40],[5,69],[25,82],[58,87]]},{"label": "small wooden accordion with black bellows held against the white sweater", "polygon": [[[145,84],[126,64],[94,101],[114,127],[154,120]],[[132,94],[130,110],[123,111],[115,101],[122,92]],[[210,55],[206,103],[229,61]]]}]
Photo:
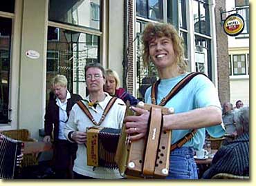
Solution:
[{"label": "small wooden accordion with black bellows held against the white sweater", "polygon": [[87,165],[118,168],[115,162],[120,129],[90,127],[87,130]]}]

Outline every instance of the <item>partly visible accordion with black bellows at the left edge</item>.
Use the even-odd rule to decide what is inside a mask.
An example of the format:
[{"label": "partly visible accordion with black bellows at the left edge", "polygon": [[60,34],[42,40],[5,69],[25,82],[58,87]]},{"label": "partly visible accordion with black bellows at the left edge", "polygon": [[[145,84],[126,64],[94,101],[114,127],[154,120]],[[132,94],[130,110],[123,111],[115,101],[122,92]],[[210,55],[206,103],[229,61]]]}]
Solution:
[{"label": "partly visible accordion with black bellows at the left edge", "polygon": [[[4,135],[3,135],[4,136]],[[3,137],[0,143],[0,178],[13,179],[17,176],[19,165],[17,156],[21,154],[24,143],[7,136]]]}]

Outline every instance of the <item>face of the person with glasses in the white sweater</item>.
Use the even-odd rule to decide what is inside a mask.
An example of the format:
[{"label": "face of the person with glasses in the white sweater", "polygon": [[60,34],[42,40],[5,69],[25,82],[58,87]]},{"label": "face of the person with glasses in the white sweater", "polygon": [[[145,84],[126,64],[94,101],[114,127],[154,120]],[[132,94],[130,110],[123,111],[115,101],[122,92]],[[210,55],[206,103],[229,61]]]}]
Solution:
[{"label": "face of the person with glasses in the white sweater", "polygon": [[102,71],[99,68],[89,68],[86,71],[85,78],[89,93],[103,91],[105,79],[102,75]]}]

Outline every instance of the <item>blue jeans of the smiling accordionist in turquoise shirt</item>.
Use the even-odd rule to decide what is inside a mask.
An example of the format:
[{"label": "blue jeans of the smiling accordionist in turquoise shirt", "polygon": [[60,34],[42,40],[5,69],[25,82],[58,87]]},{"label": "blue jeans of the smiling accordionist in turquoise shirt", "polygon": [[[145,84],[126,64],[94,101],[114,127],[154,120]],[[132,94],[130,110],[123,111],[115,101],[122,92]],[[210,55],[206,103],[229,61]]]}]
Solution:
[{"label": "blue jeans of the smiling accordionist in turquoise shirt", "polygon": [[171,152],[167,179],[198,179],[192,147],[176,148]]}]

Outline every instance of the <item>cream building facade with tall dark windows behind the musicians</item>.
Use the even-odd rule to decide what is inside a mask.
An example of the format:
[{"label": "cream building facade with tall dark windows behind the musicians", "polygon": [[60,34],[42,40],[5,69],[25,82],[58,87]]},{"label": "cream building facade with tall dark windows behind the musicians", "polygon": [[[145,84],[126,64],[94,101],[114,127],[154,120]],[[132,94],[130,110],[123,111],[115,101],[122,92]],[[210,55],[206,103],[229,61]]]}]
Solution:
[{"label": "cream building facade with tall dark windows behind the musicians", "polygon": [[122,86],[143,100],[157,79],[144,68],[140,37],[148,22],[172,23],[184,40],[188,71],[208,74],[221,102],[230,99],[228,42],[220,8],[210,0],[9,0],[0,7],[0,130],[44,126],[51,79],[86,96],[84,65],[116,70]]}]

